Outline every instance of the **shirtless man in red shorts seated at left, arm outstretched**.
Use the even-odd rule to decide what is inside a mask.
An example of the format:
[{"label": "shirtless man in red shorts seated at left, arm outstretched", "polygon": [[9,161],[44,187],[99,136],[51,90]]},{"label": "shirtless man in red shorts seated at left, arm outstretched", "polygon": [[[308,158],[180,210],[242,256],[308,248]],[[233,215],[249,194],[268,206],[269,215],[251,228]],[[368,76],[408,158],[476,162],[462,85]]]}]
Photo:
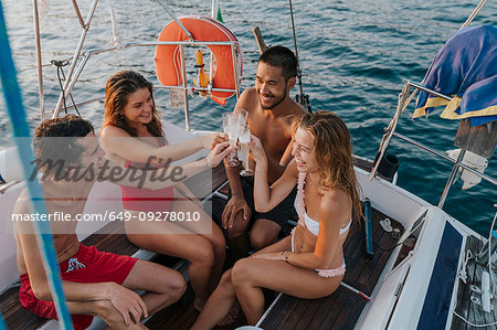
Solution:
[{"label": "shirtless man in red shorts seated at left, arm outstretched", "polygon": [[[105,155],[89,121],[76,116],[67,115],[45,120],[36,128],[35,136],[42,137],[34,143],[36,158],[46,161],[51,157],[57,157],[52,158],[57,160],[60,155],[64,155],[65,159],[70,159],[64,163],[65,173],[71,173],[74,168],[85,169],[101,164]],[[50,138],[43,139],[45,137],[67,137],[67,139],[63,142],[53,139],[52,142]],[[204,163],[220,163],[226,152],[218,152],[218,156],[214,153],[222,148],[216,147]],[[199,161],[198,164],[193,163],[191,168],[186,169],[186,172],[198,172],[205,169],[205,164]],[[102,179],[67,182],[64,179],[57,180],[55,171],[49,167],[41,168],[40,171],[45,175],[41,180],[41,185],[47,214],[63,212],[71,214],[73,220],[83,213],[93,184],[97,179]],[[138,182],[121,178],[119,184],[137,185]],[[146,188],[160,189],[167,184],[147,182]],[[30,195],[24,190],[15,203],[12,219],[15,215],[32,214],[34,212]],[[32,223],[17,221],[14,225],[18,268],[22,274],[21,305],[41,317],[55,319],[53,297]],[[94,246],[86,247],[77,238],[76,225],[77,221],[51,222],[62,286],[74,329],[87,328],[94,316],[103,319],[113,329],[144,329],[140,320],[177,301],[184,292],[186,283],[178,272],[129,256],[98,252]],[[146,294],[140,297],[133,290],[145,290]]]}]

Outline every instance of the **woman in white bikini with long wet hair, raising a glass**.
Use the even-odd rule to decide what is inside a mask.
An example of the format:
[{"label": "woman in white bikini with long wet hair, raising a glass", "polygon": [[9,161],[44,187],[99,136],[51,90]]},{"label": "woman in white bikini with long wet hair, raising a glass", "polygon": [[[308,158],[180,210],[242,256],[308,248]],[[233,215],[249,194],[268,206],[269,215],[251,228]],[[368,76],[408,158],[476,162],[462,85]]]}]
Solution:
[{"label": "woman in white bikini with long wet hair, raising a glass", "polygon": [[267,212],[298,184],[298,225],[290,236],[224,273],[193,329],[233,321],[236,300],[248,324],[255,324],[264,312],[263,288],[298,298],[321,298],[338,288],[346,272],[342,245],[352,216],[359,219],[361,207],[343,120],[329,111],[305,115],[296,124],[294,160],[271,188],[266,156],[256,137],[252,137],[251,151],[256,161],[255,209]]}]

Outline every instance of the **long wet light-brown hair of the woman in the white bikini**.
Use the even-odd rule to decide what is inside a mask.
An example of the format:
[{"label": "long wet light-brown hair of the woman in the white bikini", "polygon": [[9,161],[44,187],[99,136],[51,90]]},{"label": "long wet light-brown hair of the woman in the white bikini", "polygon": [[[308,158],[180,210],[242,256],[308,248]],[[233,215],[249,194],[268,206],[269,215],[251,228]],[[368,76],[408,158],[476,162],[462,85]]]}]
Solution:
[{"label": "long wet light-brown hair of the woman in the white bikini", "polygon": [[340,189],[352,201],[355,219],[362,217],[359,199],[360,185],[352,164],[350,134],[340,117],[330,111],[304,115],[295,129],[307,130],[314,140],[314,158],[318,164],[320,185],[324,189]]}]

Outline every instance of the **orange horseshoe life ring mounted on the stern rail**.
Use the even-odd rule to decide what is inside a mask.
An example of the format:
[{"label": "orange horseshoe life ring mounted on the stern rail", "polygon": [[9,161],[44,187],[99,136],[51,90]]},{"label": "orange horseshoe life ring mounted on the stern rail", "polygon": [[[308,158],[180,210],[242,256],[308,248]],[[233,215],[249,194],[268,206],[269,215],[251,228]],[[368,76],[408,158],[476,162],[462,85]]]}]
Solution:
[{"label": "orange horseshoe life ring mounted on the stern rail", "polygon": [[[195,41],[234,41],[236,43],[235,54],[239,65],[239,78],[242,77],[242,53],[236,36],[221,22],[203,15],[187,15],[179,21],[191,33]],[[186,41],[184,31],[171,21],[159,34],[159,41]],[[213,54],[213,88],[235,89],[235,76],[233,67],[233,55],[230,45],[209,45]],[[156,73],[159,82],[165,86],[179,86],[183,83],[181,57],[179,45],[158,45],[156,47]],[[239,82],[240,83],[240,82]],[[226,98],[233,96],[234,92],[212,91],[211,97],[223,104]]]}]

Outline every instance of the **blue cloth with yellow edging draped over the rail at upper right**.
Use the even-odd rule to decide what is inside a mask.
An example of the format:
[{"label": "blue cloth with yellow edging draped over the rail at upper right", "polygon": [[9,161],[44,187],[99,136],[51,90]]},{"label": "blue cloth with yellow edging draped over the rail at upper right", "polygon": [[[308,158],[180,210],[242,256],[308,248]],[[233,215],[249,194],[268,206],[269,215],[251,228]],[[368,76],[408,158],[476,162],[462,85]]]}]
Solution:
[{"label": "blue cloth with yellow edging draped over the rail at upper right", "polygon": [[413,118],[446,106],[442,118],[470,118],[470,126],[497,120],[497,28],[465,28],[454,34],[430,65],[424,86],[453,98],[421,92]]}]

